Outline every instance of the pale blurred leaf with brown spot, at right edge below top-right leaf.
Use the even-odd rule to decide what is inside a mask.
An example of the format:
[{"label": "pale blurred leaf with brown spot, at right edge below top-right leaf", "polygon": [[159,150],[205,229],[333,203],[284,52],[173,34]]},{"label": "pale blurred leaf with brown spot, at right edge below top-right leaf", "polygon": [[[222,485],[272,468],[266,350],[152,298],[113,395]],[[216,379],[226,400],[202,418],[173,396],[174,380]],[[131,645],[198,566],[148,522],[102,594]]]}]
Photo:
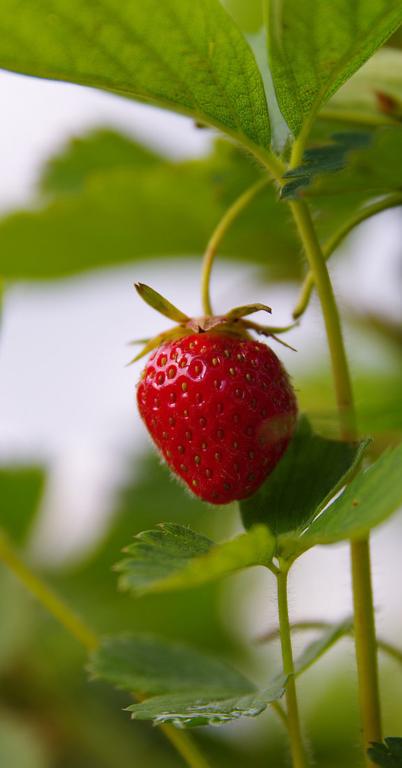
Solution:
[{"label": "pale blurred leaf with brown spot, at right edge below top-right leaf", "polygon": [[381,48],[339,88],[318,115],[320,121],[382,124],[402,120],[402,51]]}]

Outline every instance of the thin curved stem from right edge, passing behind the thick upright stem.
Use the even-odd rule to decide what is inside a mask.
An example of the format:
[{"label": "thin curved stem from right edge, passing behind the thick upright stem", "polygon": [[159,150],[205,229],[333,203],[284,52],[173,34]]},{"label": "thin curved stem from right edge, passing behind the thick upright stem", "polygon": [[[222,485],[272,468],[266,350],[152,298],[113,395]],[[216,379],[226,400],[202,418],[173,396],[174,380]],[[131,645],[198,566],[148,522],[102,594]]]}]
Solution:
[{"label": "thin curved stem from right edge, passing behind the thick upright stem", "polygon": [[[336,250],[338,245],[341,244],[342,240],[344,240],[349,232],[351,232],[354,227],[357,227],[358,224],[360,224],[362,221],[365,221],[366,219],[369,219],[376,214],[380,214],[383,210],[388,210],[388,208],[395,208],[399,205],[402,205],[402,194],[393,194],[389,197],[385,197],[384,200],[377,200],[376,203],[366,205],[364,208],[361,208],[361,210],[358,210],[357,213],[354,214],[354,217],[347,221],[343,227],[340,227],[338,231],[335,232],[332,237],[330,237],[330,239],[325,243],[325,246],[322,249],[325,260],[329,259],[331,254],[334,253],[334,250]],[[311,270],[309,270],[308,274],[305,276],[305,282],[302,285],[298,303],[293,313],[293,317],[295,319],[305,313],[313,288],[314,276]]]}]

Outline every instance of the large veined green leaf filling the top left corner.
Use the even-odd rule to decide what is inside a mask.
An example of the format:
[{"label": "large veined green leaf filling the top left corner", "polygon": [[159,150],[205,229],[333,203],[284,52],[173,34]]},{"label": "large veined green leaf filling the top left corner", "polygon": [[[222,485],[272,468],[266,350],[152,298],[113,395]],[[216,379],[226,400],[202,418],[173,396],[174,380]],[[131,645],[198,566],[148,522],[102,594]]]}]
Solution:
[{"label": "large veined green leaf filling the top left corner", "polygon": [[259,69],[219,0],[3,0],[0,66],[179,111],[269,148]]}]

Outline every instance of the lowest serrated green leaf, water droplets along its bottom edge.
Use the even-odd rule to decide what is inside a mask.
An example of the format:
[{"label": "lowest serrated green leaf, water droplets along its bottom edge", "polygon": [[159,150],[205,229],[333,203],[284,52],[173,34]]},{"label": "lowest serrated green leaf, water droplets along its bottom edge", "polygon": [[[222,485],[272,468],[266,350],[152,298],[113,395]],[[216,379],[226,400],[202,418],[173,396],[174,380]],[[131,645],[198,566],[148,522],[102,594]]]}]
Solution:
[{"label": "lowest serrated green leaf, water droplets along its bottom edge", "polygon": [[105,637],[89,664],[91,676],[153,698],[133,704],[132,717],[205,725],[255,716],[284,693],[279,675],[259,692],[226,662],[188,645],[152,635]]}]

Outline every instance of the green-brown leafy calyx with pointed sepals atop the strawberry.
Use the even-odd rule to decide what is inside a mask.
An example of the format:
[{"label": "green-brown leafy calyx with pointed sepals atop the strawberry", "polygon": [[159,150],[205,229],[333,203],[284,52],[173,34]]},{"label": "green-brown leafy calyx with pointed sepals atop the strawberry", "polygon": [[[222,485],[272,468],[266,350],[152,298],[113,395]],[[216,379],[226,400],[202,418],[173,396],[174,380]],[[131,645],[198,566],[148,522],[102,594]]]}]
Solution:
[{"label": "green-brown leafy calyx with pointed sepals atop the strawberry", "polygon": [[152,352],[161,344],[173,341],[174,339],[182,339],[184,336],[190,336],[194,333],[219,333],[220,335],[235,336],[240,339],[252,339],[249,331],[255,331],[262,336],[272,336],[275,341],[278,341],[283,346],[287,346],[289,349],[294,349],[289,344],[286,344],[282,339],[278,339],[277,333],[284,333],[295,326],[298,323],[292,323],[290,326],[274,327],[274,326],[262,326],[259,323],[253,323],[249,320],[249,315],[255,312],[267,312],[271,313],[271,307],[266,304],[245,304],[244,306],[236,306],[234,309],[229,310],[225,315],[204,315],[200,317],[188,317],[181,310],[177,309],[170,301],[157,293],[156,290],[150,288],[150,286],[144,283],[134,283],[134,287],[141,298],[152,306],[154,310],[157,310],[160,314],[177,323],[176,326],[170,328],[162,333],[158,333],[152,339],[143,339],[141,341],[133,341],[132,344],[144,344],[141,352],[135,356],[128,365],[136,362],[144,355]]}]

